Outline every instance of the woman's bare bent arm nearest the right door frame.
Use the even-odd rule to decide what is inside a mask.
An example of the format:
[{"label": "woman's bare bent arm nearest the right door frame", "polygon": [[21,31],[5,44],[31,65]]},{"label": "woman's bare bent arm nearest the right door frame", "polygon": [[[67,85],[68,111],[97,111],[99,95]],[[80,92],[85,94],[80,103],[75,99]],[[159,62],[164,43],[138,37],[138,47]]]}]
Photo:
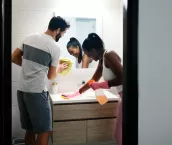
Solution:
[{"label": "woman's bare bent arm nearest the right door frame", "polygon": [[123,68],[119,56],[114,51],[110,51],[105,54],[105,61],[116,76],[115,79],[108,81],[109,87],[122,85]]}]

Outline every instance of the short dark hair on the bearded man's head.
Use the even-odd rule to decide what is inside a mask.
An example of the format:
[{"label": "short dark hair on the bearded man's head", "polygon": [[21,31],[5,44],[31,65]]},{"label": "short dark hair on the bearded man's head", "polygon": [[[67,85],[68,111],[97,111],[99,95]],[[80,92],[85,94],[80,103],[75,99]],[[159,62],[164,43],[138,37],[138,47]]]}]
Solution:
[{"label": "short dark hair on the bearded man's head", "polygon": [[49,30],[55,31],[60,28],[61,32],[65,31],[69,27],[70,27],[70,24],[66,22],[66,20],[60,16],[52,17],[48,25]]}]

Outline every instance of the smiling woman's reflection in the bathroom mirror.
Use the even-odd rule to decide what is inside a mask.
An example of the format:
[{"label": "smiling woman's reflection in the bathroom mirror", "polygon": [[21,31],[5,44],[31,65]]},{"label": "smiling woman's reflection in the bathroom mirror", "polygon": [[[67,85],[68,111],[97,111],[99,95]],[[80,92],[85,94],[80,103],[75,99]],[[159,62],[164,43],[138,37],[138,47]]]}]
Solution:
[{"label": "smiling woman's reflection in the bathroom mirror", "polygon": [[90,68],[94,64],[93,59],[82,53],[81,44],[76,38],[70,38],[66,47],[70,55],[78,59],[81,68]]}]

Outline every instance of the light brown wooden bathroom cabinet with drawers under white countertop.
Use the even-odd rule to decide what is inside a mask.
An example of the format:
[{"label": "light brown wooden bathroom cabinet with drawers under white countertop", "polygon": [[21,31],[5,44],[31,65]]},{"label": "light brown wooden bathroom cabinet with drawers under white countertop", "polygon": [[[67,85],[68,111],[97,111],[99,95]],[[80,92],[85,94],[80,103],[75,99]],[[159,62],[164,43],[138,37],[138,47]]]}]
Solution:
[{"label": "light brown wooden bathroom cabinet with drawers under white countertop", "polygon": [[114,140],[118,101],[53,104],[53,145]]}]

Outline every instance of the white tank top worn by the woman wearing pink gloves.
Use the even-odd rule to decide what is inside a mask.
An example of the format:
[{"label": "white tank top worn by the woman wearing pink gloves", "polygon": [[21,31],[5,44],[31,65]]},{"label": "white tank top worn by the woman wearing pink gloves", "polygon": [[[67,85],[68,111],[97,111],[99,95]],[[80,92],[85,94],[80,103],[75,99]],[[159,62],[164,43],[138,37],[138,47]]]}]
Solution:
[{"label": "white tank top worn by the woman wearing pink gloves", "polygon": [[[103,72],[102,72],[102,76],[103,76],[103,79],[105,81],[109,81],[109,80],[115,79],[116,76],[115,76],[115,74],[113,73],[113,71],[110,68],[107,68],[105,66],[104,55],[106,54],[106,52],[107,51],[105,51],[104,54],[103,54],[103,64],[102,64],[103,65]],[[121,91],[122,91],[122,85],[110,88],[110,92],[113,93],[113,94],[118,94],[118,92],[121,92]]]}]

